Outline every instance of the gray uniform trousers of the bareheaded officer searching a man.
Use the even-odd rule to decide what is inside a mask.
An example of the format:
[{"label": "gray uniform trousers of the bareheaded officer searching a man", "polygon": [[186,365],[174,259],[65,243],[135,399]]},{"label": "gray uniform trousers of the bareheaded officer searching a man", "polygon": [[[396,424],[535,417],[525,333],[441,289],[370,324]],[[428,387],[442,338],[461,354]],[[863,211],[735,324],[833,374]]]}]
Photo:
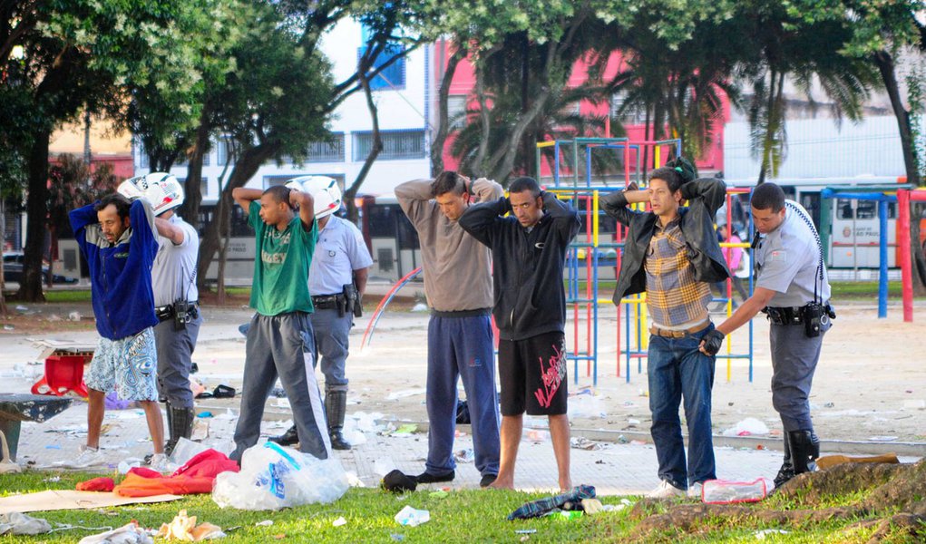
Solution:
[{"label": "gray uniform trousers of the bareheaded officer searching a man", "polygon": [[782,417],[784,431],[813,430],[810,386],[820,360],[824,333],[807,338],[803,325],[770,325],[771,404]]}]

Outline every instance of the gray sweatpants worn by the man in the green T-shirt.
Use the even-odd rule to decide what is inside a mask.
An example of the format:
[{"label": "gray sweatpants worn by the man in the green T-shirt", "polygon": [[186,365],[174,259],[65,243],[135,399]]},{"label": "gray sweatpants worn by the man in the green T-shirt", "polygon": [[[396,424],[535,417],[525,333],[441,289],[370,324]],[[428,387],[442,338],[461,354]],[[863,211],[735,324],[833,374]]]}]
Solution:
[{"label": "gray sweatpants worn by the man in the green T-shirt", "polygon": [[232,459],[240,462],[244,450],[257,444],[264,404],[277,376],[293,407],[299,450],[327,459],[332,444],[312,366],[315,343],[308,314],[255,314],[246,346],[241,414],[234,431]]}]

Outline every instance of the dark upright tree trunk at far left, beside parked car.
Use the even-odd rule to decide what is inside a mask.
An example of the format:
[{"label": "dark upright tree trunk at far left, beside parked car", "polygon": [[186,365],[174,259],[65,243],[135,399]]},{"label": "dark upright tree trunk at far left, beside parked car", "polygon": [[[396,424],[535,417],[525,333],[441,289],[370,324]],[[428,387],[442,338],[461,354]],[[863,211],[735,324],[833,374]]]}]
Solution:
[{"label": "dark upright tree trunk at far left, beside parked car", "polygon": [[48,140],[49,130],[39,130],[29,151],[29,196],[26,211],[29,221],[26,225],[26,248],[22,259],[22,283],[19,284],[19,300],[24,303],[43,302],[42,256],[45,249],[45,233],[48,216]]}]

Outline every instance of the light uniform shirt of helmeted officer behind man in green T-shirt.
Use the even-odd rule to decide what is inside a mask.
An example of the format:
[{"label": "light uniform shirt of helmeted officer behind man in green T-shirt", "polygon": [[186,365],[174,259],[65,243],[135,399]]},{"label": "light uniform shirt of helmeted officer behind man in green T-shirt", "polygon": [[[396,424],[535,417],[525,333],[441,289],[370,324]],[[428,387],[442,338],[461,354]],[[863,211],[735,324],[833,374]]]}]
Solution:
[{"label": "light uniform shirt of helmeted officer behind man in green T-shirt", "polygon": [[360,229],[338,216],[329,216],[319,230],[312,266],[308,269],[308,292],[312,296],[341,294],[354,270],[373,264]]}]

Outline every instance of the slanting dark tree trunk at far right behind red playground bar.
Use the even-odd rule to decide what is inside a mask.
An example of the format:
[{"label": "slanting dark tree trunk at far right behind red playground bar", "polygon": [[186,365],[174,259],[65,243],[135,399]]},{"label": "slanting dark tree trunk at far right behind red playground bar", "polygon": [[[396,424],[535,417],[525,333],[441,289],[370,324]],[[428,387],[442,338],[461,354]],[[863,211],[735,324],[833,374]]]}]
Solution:
[{"label": "slanting dark tree trunk at far right behind red playground bar", "polygon": [[[904,108],[904,102],[900,97],[900,88],[897,85],[897,77],[894,66],[894,58],[887,51],[879,51],[874,54],[875,64],[881,72],[881,79],[884,82],[884,90],[891,98],[891,107],[894,109],[894,117],[897,119],[897,130],[900,132],[900,148],[904,154],[904,167],[907,170],[907,182],[914,186],[920,186],[920,172],[917,170],[916,157],[913,150],[913,131],[910,129],[910,114]],[[920,209],[916,204],[910,206],[914,211]],[[917,271],[920,281],[913,282],[913,291],[916,295],[926,294],[926,256],[923,255],[923,248],[920,245],[920,215],[912,215],[910,221],[910,255],[913,257],[913,266]]]}]

